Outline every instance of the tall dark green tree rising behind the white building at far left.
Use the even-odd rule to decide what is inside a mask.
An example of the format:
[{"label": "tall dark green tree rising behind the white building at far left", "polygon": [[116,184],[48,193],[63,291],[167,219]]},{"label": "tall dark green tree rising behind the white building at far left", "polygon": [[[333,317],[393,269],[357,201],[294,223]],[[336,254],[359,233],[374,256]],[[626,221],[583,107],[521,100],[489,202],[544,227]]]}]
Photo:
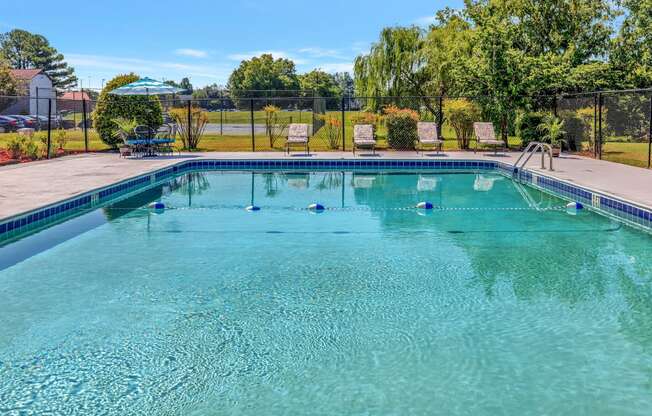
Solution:
[{"label": "tall dark green tree rising behind the white building at far left", "polygon": [[44,36],[20,29],[4,33],[0,35],[0,54],[16,69],[42,69],[56,88],[77,85],[75,70]]}]

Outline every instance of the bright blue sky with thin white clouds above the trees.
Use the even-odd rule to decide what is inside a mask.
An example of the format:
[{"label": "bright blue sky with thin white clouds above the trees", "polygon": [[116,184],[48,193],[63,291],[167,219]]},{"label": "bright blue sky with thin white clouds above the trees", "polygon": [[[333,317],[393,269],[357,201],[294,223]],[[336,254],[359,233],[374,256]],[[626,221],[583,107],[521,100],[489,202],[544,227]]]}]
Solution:
[{"label": "bright blue sky with thin white clouds above the trees", "polygon": [[[157,79],[225,84],[242,59],[291,58],[299,72],[350,70],[381,28],[427,26],[436,10],[462,0],[32,0],[0,16],[0,31],[46,36],[84,87],[134,71]],[[89,78],[90,77],[90,78]]]}]

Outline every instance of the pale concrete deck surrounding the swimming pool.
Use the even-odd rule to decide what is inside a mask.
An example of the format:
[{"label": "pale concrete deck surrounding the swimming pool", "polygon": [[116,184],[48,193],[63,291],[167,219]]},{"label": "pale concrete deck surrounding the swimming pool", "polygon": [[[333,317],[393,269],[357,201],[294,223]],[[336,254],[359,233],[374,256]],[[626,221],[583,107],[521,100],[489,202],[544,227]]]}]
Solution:
[{"label": "pale concrete deck surrounding the swimming pool", "polygon": [[[175,157],[123,159],[115,153],[88,153],[53,160],[0,167],[0,220],[25,213],[97,188],[198,159],[440,159],[488,160],[514,164],[520,152],[508,154],[445,152],[435,156],[413,152],[378,152],[353,156],[351,152],[317,152],[310,157],[281,152],[205,152]],[[540,169],[538,155],[526,168],[583,188],[652,208],[652,170],[576,155],[555,158],[553,172]],[[546,162],[547,163],[547,162]]]}]

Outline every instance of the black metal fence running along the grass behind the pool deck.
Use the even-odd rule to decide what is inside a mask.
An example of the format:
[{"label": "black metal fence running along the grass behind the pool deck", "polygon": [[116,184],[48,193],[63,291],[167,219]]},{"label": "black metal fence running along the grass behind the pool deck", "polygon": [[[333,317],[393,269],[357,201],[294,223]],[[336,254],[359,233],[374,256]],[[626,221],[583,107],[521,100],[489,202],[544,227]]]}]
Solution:
[{"label": "black metal fence running along the grass behind the pool deck", "polygon": [[[372,124],[381,149],[414,150],[419,121],[437,122],[445,147],[458,150],[468,148],[465,125],[470,120],[494,122],[498,137],[518,149],[528,127],[523,116],[538,112],[564,121],[565,147],[571,151],[648,168],[652,163],[652,89],[529,97],[513,110],[492,97],[253,95],[159,101],[164,123],[177,123],[179,110],[203,114],[205,125],[196,133],[201,133],[203,150],[280,151],[291,123],[308,124],[310,145],[317,151],[352,150],[356,124]],[[20,130],[23,136],[31,134],[29,140],[41,147],[41,157],[107,148],[93,124],[97,102],[83,93],[79,97],[0,97],[0,147],[8,148]],[[496,111],[498,106],[502,112]]]}]

